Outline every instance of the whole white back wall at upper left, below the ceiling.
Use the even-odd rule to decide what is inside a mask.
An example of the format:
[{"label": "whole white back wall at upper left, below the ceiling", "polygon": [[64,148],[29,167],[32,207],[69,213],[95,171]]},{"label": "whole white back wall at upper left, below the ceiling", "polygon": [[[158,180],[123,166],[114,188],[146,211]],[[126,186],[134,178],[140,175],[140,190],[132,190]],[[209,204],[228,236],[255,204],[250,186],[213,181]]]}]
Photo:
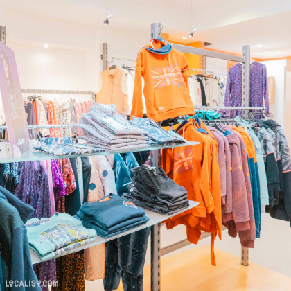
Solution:
[{"label": "whole white back wall at upper left, below the ceiling", "polygon": [[108,44],[108,60],[136,60],[150,39],[150,25],[148,34],[141,35],[135,28],[89,26],[7,8],[0,11],[0,19],[6,25],[6,44],[15,51],[23,89],[96,91],[103,42]]}]

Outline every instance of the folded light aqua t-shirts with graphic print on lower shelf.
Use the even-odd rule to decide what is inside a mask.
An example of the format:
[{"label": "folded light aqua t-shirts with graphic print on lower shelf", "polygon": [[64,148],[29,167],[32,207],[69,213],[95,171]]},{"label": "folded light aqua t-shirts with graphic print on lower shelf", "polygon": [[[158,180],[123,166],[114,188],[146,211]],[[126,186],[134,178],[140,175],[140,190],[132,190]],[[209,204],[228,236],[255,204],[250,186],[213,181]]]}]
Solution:
[{"label": "folded light aqua t-shirts with graphic print on lower shelf", "polygon": [[69,249],[96,240],[94,229],[85,229],[82,222],[64,213],[51,218],[33,218],[25,224],[30,249],[42,260],[48,260]]}]

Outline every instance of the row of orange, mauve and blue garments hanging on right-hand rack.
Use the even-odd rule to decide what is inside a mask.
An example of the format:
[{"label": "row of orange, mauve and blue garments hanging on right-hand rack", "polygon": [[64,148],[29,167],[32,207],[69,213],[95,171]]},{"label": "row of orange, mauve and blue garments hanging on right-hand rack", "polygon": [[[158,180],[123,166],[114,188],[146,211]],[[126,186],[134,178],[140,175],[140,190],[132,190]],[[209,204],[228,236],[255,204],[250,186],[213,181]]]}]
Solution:
[{"label": "row of orange, mauve and blue garments hanging on right-hand rack", "polygon": [[[163,150],[166,174],[188,191],[199,206],[166,222],[167,228],[186,226],[187,238],[197,244],[201,231],[221,239],[221,224],[243,247],[260,237],[261,212],[290,221],[290,151],[275,121],[202,121],[196,115],[175,132],[200,145]],[[210,184],[209,184],[210,181]]]}]

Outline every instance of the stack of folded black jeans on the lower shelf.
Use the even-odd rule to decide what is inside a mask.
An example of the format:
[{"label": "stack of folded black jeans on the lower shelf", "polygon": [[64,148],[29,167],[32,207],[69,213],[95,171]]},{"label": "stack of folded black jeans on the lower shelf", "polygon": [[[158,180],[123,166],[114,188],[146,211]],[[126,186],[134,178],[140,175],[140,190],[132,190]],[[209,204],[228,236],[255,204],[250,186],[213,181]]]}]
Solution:
[{"label": "stack of folded black jeans on the lower shelf", "polygon": [[124,196],[134,204],[163,215],[173,215],[188,208],[186,188],[170,179],[163,168],[143,165],[133,168],[131,172],[130,193]]}]

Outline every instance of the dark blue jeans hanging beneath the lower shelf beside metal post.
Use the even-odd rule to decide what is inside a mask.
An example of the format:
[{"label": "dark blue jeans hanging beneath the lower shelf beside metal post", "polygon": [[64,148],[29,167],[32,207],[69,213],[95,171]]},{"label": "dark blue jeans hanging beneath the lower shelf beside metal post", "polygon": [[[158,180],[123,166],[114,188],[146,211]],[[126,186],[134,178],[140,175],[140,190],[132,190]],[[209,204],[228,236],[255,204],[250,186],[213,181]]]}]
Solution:
[{"label": "dark blue jeans hanging beneath the lower shelf beside metal post", "polygon": [[124,291],[143,290],[143,267],[150,227],[106,243],[105,291],[118,288],[121,277]]}]

